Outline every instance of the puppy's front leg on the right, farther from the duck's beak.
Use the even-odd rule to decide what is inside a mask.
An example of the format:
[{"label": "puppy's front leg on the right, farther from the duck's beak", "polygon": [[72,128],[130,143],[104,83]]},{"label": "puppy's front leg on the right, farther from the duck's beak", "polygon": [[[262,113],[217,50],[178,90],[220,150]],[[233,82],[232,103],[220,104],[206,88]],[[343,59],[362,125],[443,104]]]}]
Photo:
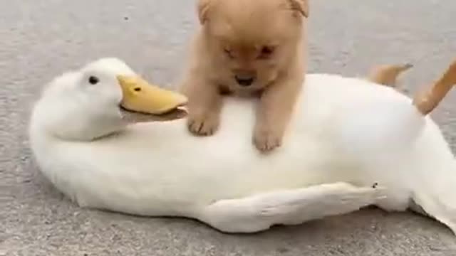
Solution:
[{"label": "puppy's front leg on the right, farther from the duck's beak", "polygon": [[261,94],[253,136],[257,149],[266,152],[281,146],[301,87],[301,79],[288,78],[269,86]]}]

